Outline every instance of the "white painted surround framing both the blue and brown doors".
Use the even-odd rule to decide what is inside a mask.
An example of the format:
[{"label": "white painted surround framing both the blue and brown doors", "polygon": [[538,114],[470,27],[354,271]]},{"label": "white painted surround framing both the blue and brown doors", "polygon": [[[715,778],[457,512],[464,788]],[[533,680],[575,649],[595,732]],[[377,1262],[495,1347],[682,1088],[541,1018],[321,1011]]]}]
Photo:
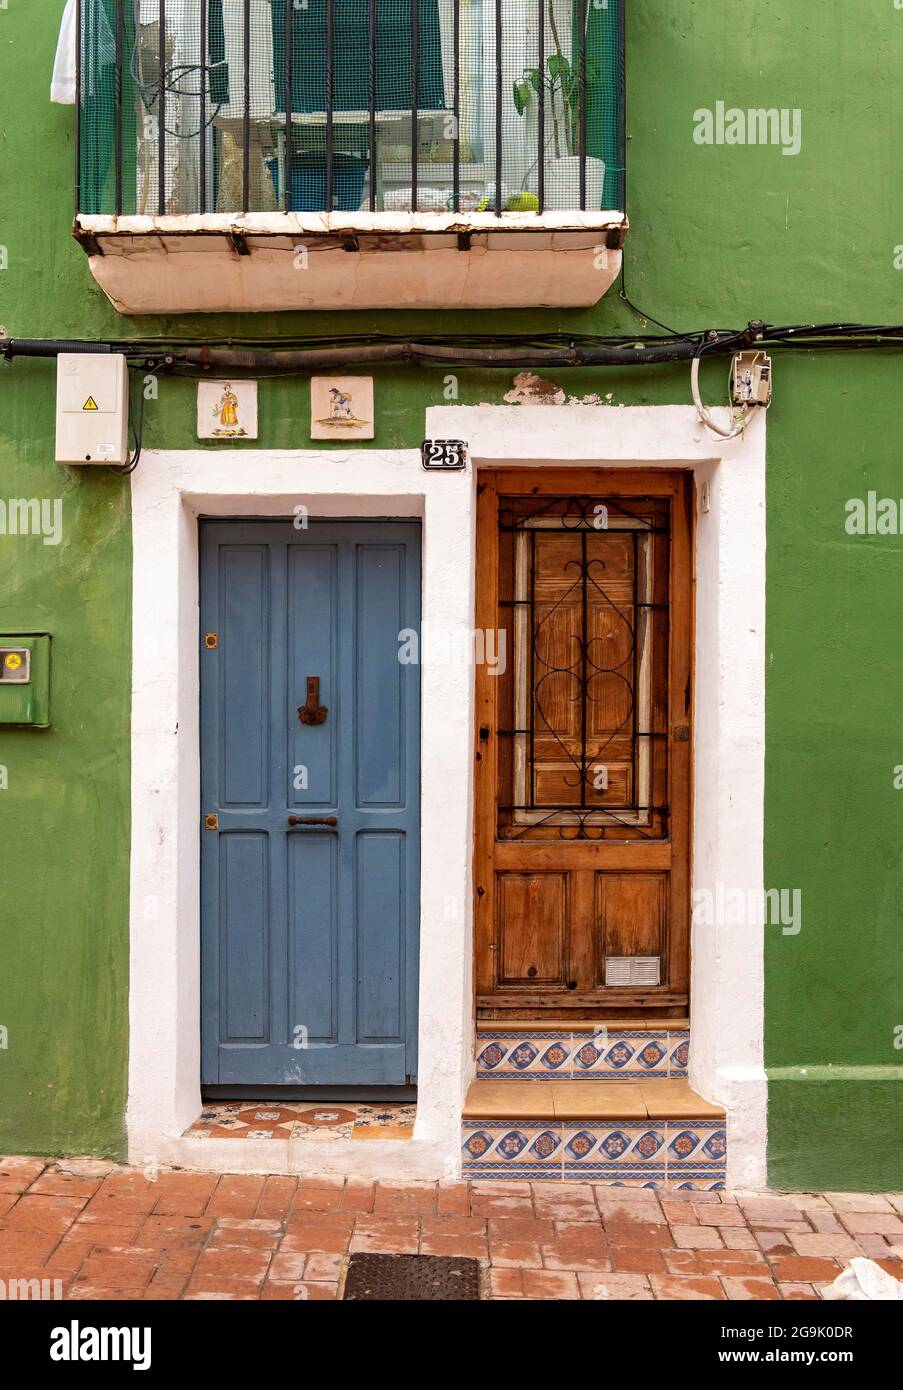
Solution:
[{"label": "white painted surround framing both the blue and brown doors", "polygon": [[[460,652],[474,626],[481,464],[684,467],[707,485],[696,525],[693,887],[763,888],[765,421],[718,442],[685,406],[438,406],[414,449],[146,450],[132,475],[133,692],[128,1148],[136,1163],[361,1177],[458,1172],[474,1069],[472,667],[422,666],[420,1077],[414,1138],[194,1140],[201,1108],[197,518],[422,518],[422,621]],[[303,513],[300,513],[303,516]],[[458,638],[456,644],[454,638]],[[690,1081],[729,1116],[728,1179],[765,1183],[761,926],[693,926]]]}]

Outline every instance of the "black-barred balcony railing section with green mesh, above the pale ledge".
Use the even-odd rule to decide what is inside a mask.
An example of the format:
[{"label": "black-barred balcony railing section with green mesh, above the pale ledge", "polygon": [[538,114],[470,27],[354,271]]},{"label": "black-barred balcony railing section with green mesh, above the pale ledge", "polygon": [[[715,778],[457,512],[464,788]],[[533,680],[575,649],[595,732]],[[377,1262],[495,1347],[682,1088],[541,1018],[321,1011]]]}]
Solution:
[{"label": "black-barred balcony railing section with green mesh, above the pale ledge", "polygon": [[624,207],[622,0],[81,0],[78,211]]}]

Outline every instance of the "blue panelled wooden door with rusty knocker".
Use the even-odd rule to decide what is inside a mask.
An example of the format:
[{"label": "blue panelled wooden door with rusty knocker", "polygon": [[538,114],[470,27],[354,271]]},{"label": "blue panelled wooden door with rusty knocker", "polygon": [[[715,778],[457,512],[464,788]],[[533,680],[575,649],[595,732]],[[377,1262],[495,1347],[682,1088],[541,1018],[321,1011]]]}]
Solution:
[{"label": "blue panelled wooden door with rusty knocker", "polygon": [[200,617],[201,1081],[403,1084],[420,523],[201,521]]}]

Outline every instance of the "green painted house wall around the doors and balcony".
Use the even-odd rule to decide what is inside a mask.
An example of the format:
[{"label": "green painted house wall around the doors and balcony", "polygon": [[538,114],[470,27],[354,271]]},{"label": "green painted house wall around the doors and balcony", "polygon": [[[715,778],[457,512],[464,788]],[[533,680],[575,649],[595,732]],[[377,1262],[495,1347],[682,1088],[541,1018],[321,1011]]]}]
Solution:
[{"label": "green painted house wall around the doors and balcony", "polygon": [[[893,0],[628,0],[628,288],[674,328],[900,321],[903,11]],[[382,331],[642,334],[592,311],[121,320],[71,220],[72,111],[47,86],[63,0],[0,10],[0,324],[19,336]],[[702,147],[693,113],[799,108],[803,145]],[[0,253],[1,256],[1,253]],[[0,264],[4,264],[0,260]],[[684,368],[560,374],[613,403],[688,402]],[[378,446],[415,445],[443,373],[376,373]],[[510,374],[460,373],[460,400]],[[706,391],[721,399],[724,366]],[[781,354],[768,421],[767,881],[803,930],[767,944],[777,1186],[893,1187],[903,1165],[903,564],[850,538],[845,502],[902,496],[896,354]],[[0,733],[0,1150],[122,1152],[128,987],[128,488],[53,463],[53,368],[0,368],[0,499],[63,498],[60,546],[0,535],[0,626],[54,634],[53,728]],[[303,382],[261,384],[261,442],[306,446]],[[161,385],[146,446],[193,445],[194,393]],[[1,780],[1,778],[0,778]],[[742,815],[742,808],[738,808]],[[1,1037],[1,1034],[0,1034]]]}]

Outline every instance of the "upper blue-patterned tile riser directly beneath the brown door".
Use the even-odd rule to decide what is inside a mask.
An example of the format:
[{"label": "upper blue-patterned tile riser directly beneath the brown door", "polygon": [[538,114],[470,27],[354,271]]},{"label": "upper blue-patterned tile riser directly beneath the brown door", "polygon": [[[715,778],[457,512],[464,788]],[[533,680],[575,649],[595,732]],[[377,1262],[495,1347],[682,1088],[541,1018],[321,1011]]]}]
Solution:
[{"label": "upper blue-patterned tile riser directly beneath the brown door", "polygon": [[477,1037],[477,1079],[675,1079],[688,1073],[689,1045],[688,1029],[610,1029],[600,1024],[596,1031],[481,1031]]}]

